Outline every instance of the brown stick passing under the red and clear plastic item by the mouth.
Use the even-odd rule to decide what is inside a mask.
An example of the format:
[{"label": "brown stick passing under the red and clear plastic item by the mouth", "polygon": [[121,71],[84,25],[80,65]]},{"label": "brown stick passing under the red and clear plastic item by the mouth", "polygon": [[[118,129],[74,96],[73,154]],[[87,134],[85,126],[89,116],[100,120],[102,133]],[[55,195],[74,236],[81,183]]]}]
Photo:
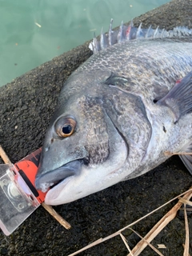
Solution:
[{"label": "brown stick passing under the red and clear plastic item by the mouth", "polygon": [[[0,145],[0,157],[2,158],[3,162],[6,164],[11,164],[10,158],[8,158],[6,152],[2,149],[2,146]],[[66,222],[64,218],[62,218],[61,215],[59,215],[52,206],[46,205],[46,203],[42,202],[42,206],[44,209],[46,209],[50,215],[52,215],[62,226],[66,228],[66,230],[70,229],[70,223]]]}]

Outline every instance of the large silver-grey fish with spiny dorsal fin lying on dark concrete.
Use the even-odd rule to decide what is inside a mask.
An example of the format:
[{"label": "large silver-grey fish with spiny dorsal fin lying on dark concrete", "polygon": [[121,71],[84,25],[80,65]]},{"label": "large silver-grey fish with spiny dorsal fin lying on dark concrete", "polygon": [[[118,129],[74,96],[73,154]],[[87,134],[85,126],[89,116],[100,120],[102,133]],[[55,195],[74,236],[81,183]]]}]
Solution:
[{"label": "large silver-grey fish with spiny dorsal fin lying on dark concrete", "polygon": [[175,152],[192,174],[192,30],[113,30],[111,21],[90,49],[46,131],[35,179],[46,204],[136,178]]}]

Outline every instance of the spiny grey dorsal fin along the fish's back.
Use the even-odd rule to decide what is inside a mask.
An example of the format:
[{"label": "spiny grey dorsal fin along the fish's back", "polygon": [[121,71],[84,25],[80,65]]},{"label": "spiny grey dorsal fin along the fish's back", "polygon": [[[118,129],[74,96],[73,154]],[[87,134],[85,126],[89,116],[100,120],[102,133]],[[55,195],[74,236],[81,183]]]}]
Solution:
[{"label": "spiny grey dorsal fin along the fish's back", "polygon": [[133,21],[129,26],[123,23],[119,26],[118,30],[112,30],[113,19],[110,20],[109,32],[101,33],[100,42],[94,37],[93,42],[90,42],[90,50],[97,54],[100,50],[106,49],[116,43],[129,41],[133,39],[152,39],[152,38],[182,38],[192,35],[192,30],[186,26],[177,26],[173,30],[161,30],[158,27],[154,30],[151,26],[148,29],[142,29],[142,23],[138,28],[134,27]]}]

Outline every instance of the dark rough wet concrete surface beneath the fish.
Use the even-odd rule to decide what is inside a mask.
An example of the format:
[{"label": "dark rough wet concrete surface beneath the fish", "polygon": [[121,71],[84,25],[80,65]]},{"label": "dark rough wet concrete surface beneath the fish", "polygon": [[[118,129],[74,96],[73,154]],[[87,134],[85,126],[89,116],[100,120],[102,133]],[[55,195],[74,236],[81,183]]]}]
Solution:
[{"label": "dark rough wet concrete surface beneath the fish", "polygon": [[[134,19],[137,26],[160,25],[171,29],[188,25],[191,21],[192,1],[175,0]],[[0,144],[12,162],[42,146],[46,127],[54,111],[59,90],[70,73],[89,58],[88,42],[46,62],[42,66],[16,78],[0,88]],[[104,238],[192,185],[192,178],[178,157],[170,158],[142,177],[122,182],[109,189],[63,206],[56,206],[59,214],[70,222],[72,229],[64,230],[42,207],[10,237],[0,232],[0,255],[68,255],[98,238]],[[134,226],[145,235],[174,203]],[[190,253],[192,253],[192,219],[190,225]],[[130,246],[138,237],[130,230],[124,232]],[[182,255],[185,242],[185,223],[175,218],[154,239],[153,245],[165,244],[164,255]],[[79,255],[126,255],[122,240],[108,242]],[[141,255],[155,255],[147,248]]]}]

